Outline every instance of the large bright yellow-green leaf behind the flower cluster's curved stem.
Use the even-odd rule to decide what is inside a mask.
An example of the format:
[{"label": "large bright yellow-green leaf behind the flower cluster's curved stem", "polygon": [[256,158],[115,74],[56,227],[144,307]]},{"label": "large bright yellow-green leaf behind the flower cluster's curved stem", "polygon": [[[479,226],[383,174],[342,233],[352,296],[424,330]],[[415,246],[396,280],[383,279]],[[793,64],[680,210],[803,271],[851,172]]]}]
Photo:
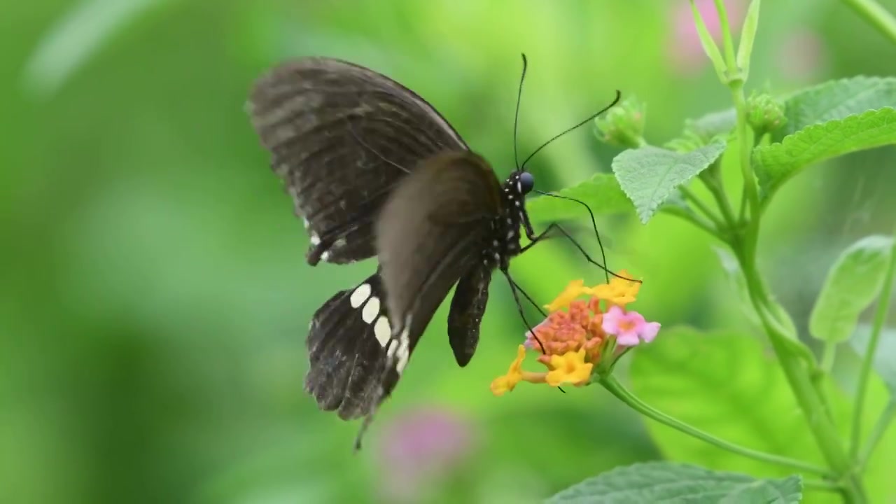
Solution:
[{"label": "large bright yellow-green leaf behind the flower cluster's curved stem", "polygon": [[[758,338],[676,327],[631,353],[634,394],[662,413],[746,448],[824,464],[787,378]],[[658,422],[645,426],[665,458],[746,474],[789,474]]]}]

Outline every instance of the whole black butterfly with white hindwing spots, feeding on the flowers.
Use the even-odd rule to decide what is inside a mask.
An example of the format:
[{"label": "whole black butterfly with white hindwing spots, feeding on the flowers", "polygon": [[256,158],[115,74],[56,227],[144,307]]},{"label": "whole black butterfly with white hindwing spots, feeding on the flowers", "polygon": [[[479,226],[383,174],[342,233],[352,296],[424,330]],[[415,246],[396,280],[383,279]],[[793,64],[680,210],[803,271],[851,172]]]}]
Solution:
[{"label": "whole black butterfly with white hindwing spots, feeding on the flowers", "polygon": [[308,264],[379,261],[314,313],[305,387],[319,407],[369,418],[455,285],[448,339],[466,366],[492,272],[507,274],[523,250],[521,228],[532,243],[545,235],[526,213],[532,175],[516,169],[501,184],[426,100],[345,61],[278,66],[255,84],[249,109],[305,219]]}]

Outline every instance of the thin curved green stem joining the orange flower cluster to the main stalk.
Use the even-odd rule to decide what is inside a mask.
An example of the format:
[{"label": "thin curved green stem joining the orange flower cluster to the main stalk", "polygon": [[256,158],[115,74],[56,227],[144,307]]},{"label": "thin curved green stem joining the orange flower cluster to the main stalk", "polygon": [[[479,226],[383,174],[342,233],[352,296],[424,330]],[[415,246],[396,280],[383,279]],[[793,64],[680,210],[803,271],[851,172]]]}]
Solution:
[{"label": "thin curved green stem joining the orange flower cluster to the main stalk", "polygon": [[644,416],[649,417],[655,421],[659,421],[659,423],[667,425],[672,429],[684,432],[688,436],[706,441],[707,443],[715,447],[728,450],[732,453],[736,453],[737,455],[747,456],[749,458],[760,460],[762,462],[768,462],[770,464],[783,465],[791,469],[805,471],[806,473],[819,474],[822,476],[831,475],[831,472],[824,467],[812,465],[801,460],[788,458],[786,456],[778,456],[771,453],[757,451],[751,448],[745,448],[740,445],[730,443],[724,439],[716,438],[711,434],[708,434],[706,432],[703,432],[702,430],[686,424],[684,421],[677,420],[676,418],[673,418],[666,413],[659,412],[650,405],[644,403],[637,396],[633,395],[632,392],[630,392],[627,388],[623,387],[623,385],[619,383],[619,381],[613,375],[599,378],[599,383],[602,387],[606,388],[610,394],[615,395],[616,398],[618,398],[620,401],[631,406],[632,409],[636,412],[642,413]]}]

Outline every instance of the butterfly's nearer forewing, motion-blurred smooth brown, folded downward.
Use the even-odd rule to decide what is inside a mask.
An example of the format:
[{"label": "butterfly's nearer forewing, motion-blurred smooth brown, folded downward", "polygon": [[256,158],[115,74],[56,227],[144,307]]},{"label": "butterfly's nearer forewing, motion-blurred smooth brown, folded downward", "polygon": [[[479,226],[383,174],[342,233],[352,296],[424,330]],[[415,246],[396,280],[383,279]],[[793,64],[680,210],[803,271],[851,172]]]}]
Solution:
[{"label": "butterfly's nearer forewing, motion-blurred smooth brown, folded downward", "polygon": [[448,152],[424,161],[383,206],[376,248],[392,325],[387,354],[399,372],[452,286],[481,265],[500,191],[481,157]]}]

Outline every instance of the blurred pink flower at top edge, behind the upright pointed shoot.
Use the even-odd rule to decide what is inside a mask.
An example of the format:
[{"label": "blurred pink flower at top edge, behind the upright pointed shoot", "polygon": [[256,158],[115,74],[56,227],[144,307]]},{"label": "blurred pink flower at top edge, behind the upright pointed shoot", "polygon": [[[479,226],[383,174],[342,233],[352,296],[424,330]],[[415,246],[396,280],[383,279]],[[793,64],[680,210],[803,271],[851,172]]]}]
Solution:
[{"label": "blurred pink flower at top edge, behind the upright pointed shoot", "polygon": [[[745,0],[725,0],[725,9],[728,13],[728,24],[731,26],[732,35],[737,37],[740,26],[744,22]],[[717,43],[721,40],[721,24],[719,13],[713,0],[695,0],[697,10],[710,30],[712,39]],[[700,44],[700,36],[694,24],[694,14],[691,12],[690,2],[676,2],[672,8],[671,18],[673,27],[671,40],[667,44],[669,51],[668,64],[676,74],[693,75],[710,65],[710,60],[703,52]]]}]

